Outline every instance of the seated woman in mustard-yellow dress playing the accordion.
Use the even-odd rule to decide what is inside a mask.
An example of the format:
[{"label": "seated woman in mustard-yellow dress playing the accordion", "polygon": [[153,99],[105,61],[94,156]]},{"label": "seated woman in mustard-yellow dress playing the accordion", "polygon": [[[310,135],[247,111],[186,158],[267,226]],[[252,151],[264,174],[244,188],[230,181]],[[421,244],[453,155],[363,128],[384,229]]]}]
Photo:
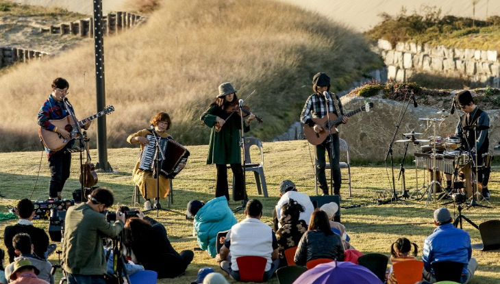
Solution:
[{"label": "seated woman in mustard-yellow dress playing the accordion", "polygon": [[[160,136],[161,138],[166,138],[169,136],[166,131],[170,129],[171,119],[166,112],[159,112],[158,114],[155,114],[155,116],[151,118],[151,121],[149,123],[154,126],[156,135]],[[129,135],[129,137],[127,138],[127,142],[129,142],[130,144],[140,143],[141,156],[137,161],[136,168],[134,168],[132,177],[134,178],[134,183],[138,186],[140,193],[146,199],[144,203],[145,210],[152,208],[149,198],[158,198],[156,190],[156,179],[153,177],[153,172],[140,170],[139,168],[142,151],[144,151],[144,147],[150,142],[146,137],[151,133],[153,133],[152,129],[142,129],[136,133]],[[166,179],[159,174],[157,176],[160,179],[160,198],[166,198],[168,196],[168,192],[170,191],[170,179]]]}]

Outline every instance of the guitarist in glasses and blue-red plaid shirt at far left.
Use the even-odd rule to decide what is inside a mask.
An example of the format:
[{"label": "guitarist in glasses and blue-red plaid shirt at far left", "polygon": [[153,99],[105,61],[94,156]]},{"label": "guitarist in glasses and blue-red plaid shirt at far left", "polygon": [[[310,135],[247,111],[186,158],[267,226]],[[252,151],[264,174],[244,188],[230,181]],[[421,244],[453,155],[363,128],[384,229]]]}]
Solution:
[{"label": "guitarist in glasses and blue-red plaid shirt at far left", "polygon": [[[69,83],[66,79],[54,79],[52,82],[52,93],[49,94],[49,98],[43,103],[38,112],[38,125],[48,131],[59,133],[62,138],[70,138],[70,133],[62,127],[56,127],[49,120],[62,119],[69,115],[63,102],[63,99],[68,94],[68,88]],[[73,107],[70,106],[70,109],[71,112],[73,112]],[[91,120],[86,122],[84,129],[88,129],[91,122]],[[49,198],[61,199],[62,188],[64,188],[64,183],[69,177],[69,170],[71,167],[71,152],[69,152],[68,149],[71,149],[73,144],[75,144],[75,140],[71,140],[71,142],[68,142],[68,144],[58,151],[51,151],[44,145],[51,170]]]}]

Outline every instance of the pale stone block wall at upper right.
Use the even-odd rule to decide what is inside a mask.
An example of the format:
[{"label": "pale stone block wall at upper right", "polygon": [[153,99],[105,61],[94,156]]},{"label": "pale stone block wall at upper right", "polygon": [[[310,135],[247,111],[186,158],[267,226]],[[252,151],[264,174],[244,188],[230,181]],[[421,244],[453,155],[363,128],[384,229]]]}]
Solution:
[{"label": "pale stone block wall at upper right", "polygon": [[416,42],[378,40],[377,51],[387,65],[387,77],[408,81],[414,73],[428,73],[470,79],[486,86],[500,87],[500,60],[497,51],[432,47]]}]

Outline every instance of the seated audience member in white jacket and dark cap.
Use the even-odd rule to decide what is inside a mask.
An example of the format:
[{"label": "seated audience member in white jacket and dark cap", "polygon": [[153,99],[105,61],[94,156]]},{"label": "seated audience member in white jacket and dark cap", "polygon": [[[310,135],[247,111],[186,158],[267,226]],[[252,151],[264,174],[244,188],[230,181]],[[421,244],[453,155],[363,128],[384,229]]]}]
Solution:
[{"label": "seated audience member in white jacket and dark cap", "polygon": [[297,201],[302,207],[304,207],[304,211],[301,212],[299,220],[304,220],[305,224],[309,224],[309,219],[311,218],[311,214],[314,211],[314,205],[312,205],[311,198],[309,198],[308,194],[297,192],[297,188],[295,188],[295,183],[292,183],[289,179],[286,179],[279,183],[279,201],[273,209],[273,230],[275,232],[278,231],[281,224],[279,224],[280,211],[282,206],[288,203],[288,199],[292,198]]}]

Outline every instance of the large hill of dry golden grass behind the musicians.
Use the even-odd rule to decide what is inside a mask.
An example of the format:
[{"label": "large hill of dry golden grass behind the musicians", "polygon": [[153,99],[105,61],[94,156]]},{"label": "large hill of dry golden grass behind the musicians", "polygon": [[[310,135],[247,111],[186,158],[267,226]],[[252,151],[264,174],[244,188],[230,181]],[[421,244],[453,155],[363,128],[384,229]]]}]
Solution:
[{"label": "large hill of dry golden grass behind the musicians", "polygon": [[[166,0],[145,25],[105,38],[104,51],[106,103],[116,109],[108,116],[112,147],[126,146],[127,135],[148,127],[159,111],[171,114],[171,134],[179,142],[205,144],[208,129],[199,116],[225,81],[242,99],[256,90],[247,105],[264,123],[253,125],[252,135],[270,140],[298,120],[314,73],[328,73],[335,91],[382,66],[360,34],[265,0]],[[36,114],[55,77],[68,79],[68,99],[80,119],[95,113],[94,65],[87,43],[1,75],[0,150],[39,147]]]}]

